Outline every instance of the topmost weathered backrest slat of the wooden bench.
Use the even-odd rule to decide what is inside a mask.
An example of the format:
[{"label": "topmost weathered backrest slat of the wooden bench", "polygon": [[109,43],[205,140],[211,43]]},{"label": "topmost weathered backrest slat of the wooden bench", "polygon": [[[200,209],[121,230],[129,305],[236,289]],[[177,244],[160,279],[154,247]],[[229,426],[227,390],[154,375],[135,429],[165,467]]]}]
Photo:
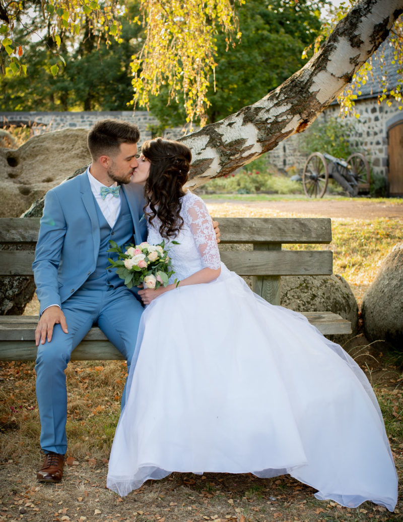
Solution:
[{"label": "topmost weathered backrest slat of the wooden bench", "polygon": [[[222,243],[330,243],[329,218],[214,218]],[[1,218],[0,243],[32,243],[38,239],[38,218]],[[253,238],[253,240],[251,240]]]}]

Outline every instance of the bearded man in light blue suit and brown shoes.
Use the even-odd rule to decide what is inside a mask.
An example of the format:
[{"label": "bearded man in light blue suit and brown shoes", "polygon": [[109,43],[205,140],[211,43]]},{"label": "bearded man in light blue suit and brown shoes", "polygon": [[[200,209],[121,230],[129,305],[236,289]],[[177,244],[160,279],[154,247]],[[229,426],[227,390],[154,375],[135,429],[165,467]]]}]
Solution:
[{"label": "bearded man in light blue suit and brown shoes", "polygon": [[40,301],[35,372],[45,453],[37,473],[41,482],[59,482],[63,475],[64,370],[72,350],[94,324],[128,366],[136,344],[143,310],[137,289],[129,290],[114,271],[106,270],[111,255],[106,251],[111,239],[119,245],[145,239],[143,187],[130,183],[139,138],[136,125],[114,120],[95,124],[88,135],[90,167],[45,196],[32,265]]}]

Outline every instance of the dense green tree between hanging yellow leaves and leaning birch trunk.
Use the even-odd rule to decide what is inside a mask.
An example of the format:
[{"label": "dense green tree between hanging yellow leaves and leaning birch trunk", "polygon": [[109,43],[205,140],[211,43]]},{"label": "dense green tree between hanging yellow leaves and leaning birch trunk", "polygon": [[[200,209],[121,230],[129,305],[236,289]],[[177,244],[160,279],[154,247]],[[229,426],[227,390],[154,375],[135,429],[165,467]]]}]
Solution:
[{"label": "dense green tree between hanging yellow leaves and leaning birch trunk", "polygon": [[[259,100],[306,63],[302,52],[320,34],[327,0],[248,0],[238,9],[240,42],[216,38],[215,78],[209,78],[206,122],[214,123]],[[312,53],[311,53],[312,54]],[[184,100],[170,100],[167,88],[150,98],[150,110],[162,128],[186,121]]]}]

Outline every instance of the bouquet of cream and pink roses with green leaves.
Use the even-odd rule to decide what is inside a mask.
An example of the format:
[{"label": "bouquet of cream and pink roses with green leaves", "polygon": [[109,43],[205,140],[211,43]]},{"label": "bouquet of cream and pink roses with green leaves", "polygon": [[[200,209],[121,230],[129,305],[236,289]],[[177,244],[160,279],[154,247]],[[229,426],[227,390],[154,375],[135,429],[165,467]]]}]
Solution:
[{"label": "bouquet of cream and pink roses with green leaves", "polygon": [[[116,274],[125,280],[127,288],[139,285],[152,289],[161,285],[166,287],[170,276],[175,274],[168,252],[164,250],[164,241],[159,245],[150,245],[143,241],[139,245],[125,246],[125,250],[115,241],[109,243],[111,248],[108,252],[117,252],[118,259],[115,261],[109,257],[111,265],[107,269],[116,268]],[[172,243],[179,244],[176,241]]]}]

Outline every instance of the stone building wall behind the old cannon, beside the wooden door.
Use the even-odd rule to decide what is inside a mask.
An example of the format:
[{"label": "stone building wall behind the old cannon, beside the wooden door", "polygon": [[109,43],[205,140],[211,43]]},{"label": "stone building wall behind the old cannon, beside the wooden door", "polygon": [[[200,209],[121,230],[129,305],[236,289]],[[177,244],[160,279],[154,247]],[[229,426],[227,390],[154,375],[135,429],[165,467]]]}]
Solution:
[{"label": "stone building wall behind the old cannon, beside the wooden door", "polygon": [[[387,175],[387,129],[390,124],[400,118],[403,121],[403,111],[399,110],[399,104],[393,100],[388,106],[385,102],[378,104],[377,98],[368,98],[356,101],[356,112],[360,117],[340,117],[338,104],[329,106],[318,116],[320,122],[325,122],[331,117],[339,117],[340,121],[351,123],[356,133],[350,136],[350,143],[355,152],[362,152],[370,161],[372,171],[383,176]],[[309,133],[309,129],[306,131]],[[296,170],[302,173],[306,156],[299,152],[301,135],[295,134],[282,141],[269,153],[270,163],[284,171]],[[326,152],[326,151],[319,151]],[[347,158],[345,158],[347,159]]]}]

